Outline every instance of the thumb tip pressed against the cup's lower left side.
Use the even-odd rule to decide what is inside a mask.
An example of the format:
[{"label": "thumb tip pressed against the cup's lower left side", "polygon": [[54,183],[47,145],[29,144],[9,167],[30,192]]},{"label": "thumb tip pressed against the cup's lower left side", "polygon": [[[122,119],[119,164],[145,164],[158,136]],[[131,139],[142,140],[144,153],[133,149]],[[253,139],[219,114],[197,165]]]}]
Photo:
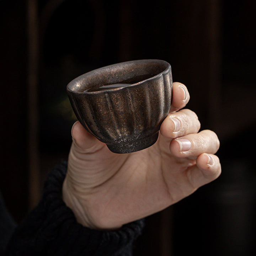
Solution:
[{"label": "thumb tip pressed against the cup's lower left side", "polygon": [[75,149],[83,153],[94,153],[106,146],[103,142],[100,142],[96,137],[87,132],[79,121],[73,124],[71,136]]}]

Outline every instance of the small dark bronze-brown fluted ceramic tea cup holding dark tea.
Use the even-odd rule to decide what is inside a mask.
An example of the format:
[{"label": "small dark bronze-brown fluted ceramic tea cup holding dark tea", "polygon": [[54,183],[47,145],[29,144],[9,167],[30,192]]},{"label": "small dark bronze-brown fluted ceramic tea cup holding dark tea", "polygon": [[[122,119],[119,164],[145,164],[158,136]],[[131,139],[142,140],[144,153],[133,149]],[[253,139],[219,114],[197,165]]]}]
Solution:
[{"label": "small dark bronze-brown fluted ceramic tea cup holding dark tea", "polygon": [[72,80],[67,93],[84,128],[114,153],[148,148],[171,106],[171,66],[164,60],[117,63]]}]

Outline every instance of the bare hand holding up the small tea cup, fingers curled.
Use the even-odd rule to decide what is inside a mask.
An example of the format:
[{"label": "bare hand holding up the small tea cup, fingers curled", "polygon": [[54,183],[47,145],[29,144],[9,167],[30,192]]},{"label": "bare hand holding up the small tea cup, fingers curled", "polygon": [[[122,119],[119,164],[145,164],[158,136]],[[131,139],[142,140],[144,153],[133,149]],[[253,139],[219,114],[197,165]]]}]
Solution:
[{"label": "bare hand holding up the small tea cup, fingers curled", "polygon": [[[71,130],[63,200],[93,229],[114,229],[180,201],[220,175],[217,135],[200,129],[185,85],[173,83],[170,113],[157,142],[129,154],[112,153],[79,122]],[[182,109],[182,110],[181,110]]]}]

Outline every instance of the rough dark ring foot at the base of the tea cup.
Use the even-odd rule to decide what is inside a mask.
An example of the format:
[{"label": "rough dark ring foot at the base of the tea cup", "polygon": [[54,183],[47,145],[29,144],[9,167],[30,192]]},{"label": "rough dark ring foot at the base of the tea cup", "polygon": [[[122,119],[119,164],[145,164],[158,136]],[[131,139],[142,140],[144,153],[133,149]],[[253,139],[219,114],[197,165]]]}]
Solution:
[{"label": "rough dark ring foot at the base of the tea cup", "polygon": [[107,144],[107,147],[113,153],[118,153],[118,154],[132,153],[132,152],[139,151],[152,146],[158,139],[158,134],[159,132],[155,133],[150,137],[135,140],[129,143],[126,142],[126,143],[118,143],[118,144]]}]

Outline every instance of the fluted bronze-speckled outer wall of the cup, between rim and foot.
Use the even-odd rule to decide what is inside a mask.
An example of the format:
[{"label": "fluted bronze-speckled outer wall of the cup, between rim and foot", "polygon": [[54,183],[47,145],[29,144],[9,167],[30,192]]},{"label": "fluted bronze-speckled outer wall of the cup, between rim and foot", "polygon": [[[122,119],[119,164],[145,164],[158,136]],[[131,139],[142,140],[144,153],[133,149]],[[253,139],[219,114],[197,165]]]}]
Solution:
[{"label": "fluted bronze-speckled outer wall of the cup, between rim and foot", "polygon": [[91,134],[106,144],[125,145],[159,131],[171,106],[171,87],[171,70],[165,70],[114,90],[68,94],[77,118]]}]

